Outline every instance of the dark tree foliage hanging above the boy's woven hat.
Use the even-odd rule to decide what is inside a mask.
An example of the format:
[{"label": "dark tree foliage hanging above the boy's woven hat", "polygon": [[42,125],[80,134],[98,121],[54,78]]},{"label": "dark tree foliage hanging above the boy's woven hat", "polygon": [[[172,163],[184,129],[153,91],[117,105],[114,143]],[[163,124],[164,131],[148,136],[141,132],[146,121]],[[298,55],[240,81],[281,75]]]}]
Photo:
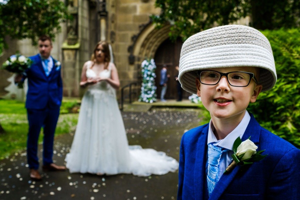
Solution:
[{"label": "dark tree foliage hanging above the boy's woven hat", "polygon": [[216,25],[227,25],[250,16],[257,29],[291,28],[300,24],[298,0],[156,0],[161,14],[152,16],[160,28],[170,23],[170,38],[186,40],[191,35]]}]

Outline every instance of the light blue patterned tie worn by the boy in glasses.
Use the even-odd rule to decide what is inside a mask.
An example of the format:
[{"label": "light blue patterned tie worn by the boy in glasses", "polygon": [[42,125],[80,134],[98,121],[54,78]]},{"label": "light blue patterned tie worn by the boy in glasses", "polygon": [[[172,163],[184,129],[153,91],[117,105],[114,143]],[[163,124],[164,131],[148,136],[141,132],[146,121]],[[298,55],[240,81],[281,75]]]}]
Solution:
[{"label": "light blue patterned tie worn by the boy in glasses", "polygon": [[227,149],[222,151],[221,147],[214,146],[211,143],[208,144],[208,169],[207,169],[207,188],[208,195],[214,190],[218,180],[220,160],[223,153],[228,151]]}]

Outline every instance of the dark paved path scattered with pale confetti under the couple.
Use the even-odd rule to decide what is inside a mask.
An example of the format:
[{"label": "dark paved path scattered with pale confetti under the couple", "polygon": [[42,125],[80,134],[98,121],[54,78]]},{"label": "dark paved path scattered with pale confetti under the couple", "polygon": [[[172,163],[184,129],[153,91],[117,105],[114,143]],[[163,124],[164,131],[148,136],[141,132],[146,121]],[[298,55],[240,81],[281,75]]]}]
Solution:
[{"label": "dark paved path scattered with pale confetti under the couple", "polygon": [[[164,151],[179,160],[184,131],[200,123],[196,109],[152,108],[122,112],[130,145]],[[64,163],[73,133],[55,138],[54,160]],[[40,146],[41,149],[41,146]],[[40,152],[41,157],[41,152]],[[40,170],[42,172],[42,170]],[[31,181],[26,153],[0,161],[0,199],[176,199],[178,171],[166,175],[92,175],[42,172],[42,181]]]}]

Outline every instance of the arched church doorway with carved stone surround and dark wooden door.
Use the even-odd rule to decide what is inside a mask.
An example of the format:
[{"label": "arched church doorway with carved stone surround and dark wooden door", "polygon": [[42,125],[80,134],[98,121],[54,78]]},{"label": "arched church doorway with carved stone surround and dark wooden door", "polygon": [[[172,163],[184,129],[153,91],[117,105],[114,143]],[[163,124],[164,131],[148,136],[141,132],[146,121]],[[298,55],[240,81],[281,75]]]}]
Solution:
[{"label": "arched church doorway with carved stone surround and dark wooden door", "polygon": [[[169,39],[170,25],[165,25],[161,29],[157,29],[149,22],[142,27],[140,33],[132,37],[133,44],[128,47],[128,52],[130,53],[129,58],[133,58],[131,66],[137,70],[137,73],[135,73],[137,75],[136,79],[141,79],[140,66],[142,61],[145,58],[154,58],[157,67],[155,71],[155,85],[157,86],[156,94],[158,99],[160,99],[160,70],[164,64],[167,64],[169,66],[168,74],[170,74],[170,78],[165,98],[177,99],[177,83],[175,81],[175,76],[178,72],[175,67],[179,65],[182,41],[179,39],[176,42],[172,42]],[[131,66],[129,68],[131,68]],[[140,87],[140,85],[137,87]],[[190,95],[190,93],[183,91],[184,99],[188,98]]]}]

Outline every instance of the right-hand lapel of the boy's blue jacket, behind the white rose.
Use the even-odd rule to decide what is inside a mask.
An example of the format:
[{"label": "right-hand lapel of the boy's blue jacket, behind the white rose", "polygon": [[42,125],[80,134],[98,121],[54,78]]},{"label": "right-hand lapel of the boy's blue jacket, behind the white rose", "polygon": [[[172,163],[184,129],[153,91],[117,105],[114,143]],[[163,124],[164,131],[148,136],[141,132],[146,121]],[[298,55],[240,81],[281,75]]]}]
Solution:
[{"label": "right-hand lapel of the boy's blue jacket, behind the white rose", "polygon": [[[251,116],[251,119],[249,121],[249,124],[247,126],[247,129],[245,130],[245,133],[242,137],[242,141],[245,141],[251,136],[251,141],[254,142],[256,146],[259,147],[259,135],[260,135],[260,125],[258,122],[255,120],[253,115],[249,113]],[[259,148],[258,148],[259,149]],[[251,166],[250,166],[251,167]],[[223,174],[220,178],[220,180],[217,182],[215,189],[211,193],[211,196],[209,197],[209,200],[213,199],[219,199],[220,196],[223,194],[223,192],[226,190],[228,185],[231,183],[235,175],[238,173],[239,169],[241,166],[235,166],[235,168],[229,172],[228,174]]]}]

